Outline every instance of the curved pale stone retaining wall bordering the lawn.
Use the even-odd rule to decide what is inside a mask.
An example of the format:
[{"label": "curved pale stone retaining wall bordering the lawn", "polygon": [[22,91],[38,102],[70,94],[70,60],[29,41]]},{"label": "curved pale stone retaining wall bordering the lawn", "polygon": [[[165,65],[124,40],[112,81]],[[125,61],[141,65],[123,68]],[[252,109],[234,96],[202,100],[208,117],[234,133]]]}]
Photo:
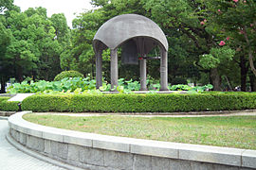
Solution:
[{"label": "curved pale stone retaining wall bordering the lawn", "polygon": [[9,117],[9,133],[27,148],[86,169],[256,169],[256,150],[106,136]]}]

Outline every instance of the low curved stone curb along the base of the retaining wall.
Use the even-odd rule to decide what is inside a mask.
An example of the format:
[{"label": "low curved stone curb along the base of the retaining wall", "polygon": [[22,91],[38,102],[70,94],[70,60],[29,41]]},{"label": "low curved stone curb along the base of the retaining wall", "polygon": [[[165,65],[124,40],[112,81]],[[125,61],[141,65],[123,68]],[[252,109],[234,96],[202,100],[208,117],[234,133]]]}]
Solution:
[{"label": "low curved stone curb along the base of the retaining wall", "polygon": [[8,133],[6,135],[6,139],[7,141],[9,142],[9,144],[12,144],[14,147],[16,147],[18,150],[21,150],[23,152],[25,152],[27,155],[31,156],[31,157],[34,157],[38,160],[41,160],[41,161],[46,161],[48,163],[51,163],[51,164],[54,164],[56,166],[59,166],[59,167],[62,167],[64,169],[70,169],[70,170],[82,170],[81,168],[78,168],[78,167],[75,167],[75,166],[72,166],[72,165],[69,165],[69,164],[66,164],[64,162],[61,162],[61,161],[55,161],[53,159],[50,159],[44,155],[41,155],[37,152],[34,152],[30,149],[27,149],[27,147],[25,147],[24,145],[22,144],[19,144],[17,143],[15,140],[13,140],[10,136],[10,134]]}]

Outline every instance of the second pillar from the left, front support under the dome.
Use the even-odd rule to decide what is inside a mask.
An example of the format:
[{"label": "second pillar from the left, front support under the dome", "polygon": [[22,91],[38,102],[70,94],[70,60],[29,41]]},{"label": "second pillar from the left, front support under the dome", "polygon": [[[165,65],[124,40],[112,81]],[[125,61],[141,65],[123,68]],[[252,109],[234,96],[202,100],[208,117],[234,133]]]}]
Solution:
[{"label": "second pillar from the left, front support under the dome", "polygon": [[119,63],[118,63],[118,50],[110,49],[110,74],[111,74],[111,89],[115,88],[117,91],[119,80]]}]

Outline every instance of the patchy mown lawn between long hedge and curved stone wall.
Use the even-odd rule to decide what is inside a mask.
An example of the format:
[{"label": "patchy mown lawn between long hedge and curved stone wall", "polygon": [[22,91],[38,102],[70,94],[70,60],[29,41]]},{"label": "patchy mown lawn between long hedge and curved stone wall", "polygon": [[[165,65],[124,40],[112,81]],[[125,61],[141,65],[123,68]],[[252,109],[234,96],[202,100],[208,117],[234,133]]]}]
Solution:
[{"label": "patchy mown lawn between long hedge and curved stone wall", "polygon": [[84,132],[186,144],[256,149],[256,116],[133,117],[120,115],[74,117],[26,114],[27,121]]}]

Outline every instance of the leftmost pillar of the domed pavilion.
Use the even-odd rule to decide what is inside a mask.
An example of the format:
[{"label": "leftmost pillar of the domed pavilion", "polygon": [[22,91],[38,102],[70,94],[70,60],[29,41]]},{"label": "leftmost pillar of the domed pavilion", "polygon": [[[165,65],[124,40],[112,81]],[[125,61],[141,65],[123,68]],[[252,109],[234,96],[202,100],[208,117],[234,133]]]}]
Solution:
[{"label": "leftmost pillar of the domed pavilion", "polygon": [[98,51],[96,54],[96,89],[102,86],[102,51]]}]

